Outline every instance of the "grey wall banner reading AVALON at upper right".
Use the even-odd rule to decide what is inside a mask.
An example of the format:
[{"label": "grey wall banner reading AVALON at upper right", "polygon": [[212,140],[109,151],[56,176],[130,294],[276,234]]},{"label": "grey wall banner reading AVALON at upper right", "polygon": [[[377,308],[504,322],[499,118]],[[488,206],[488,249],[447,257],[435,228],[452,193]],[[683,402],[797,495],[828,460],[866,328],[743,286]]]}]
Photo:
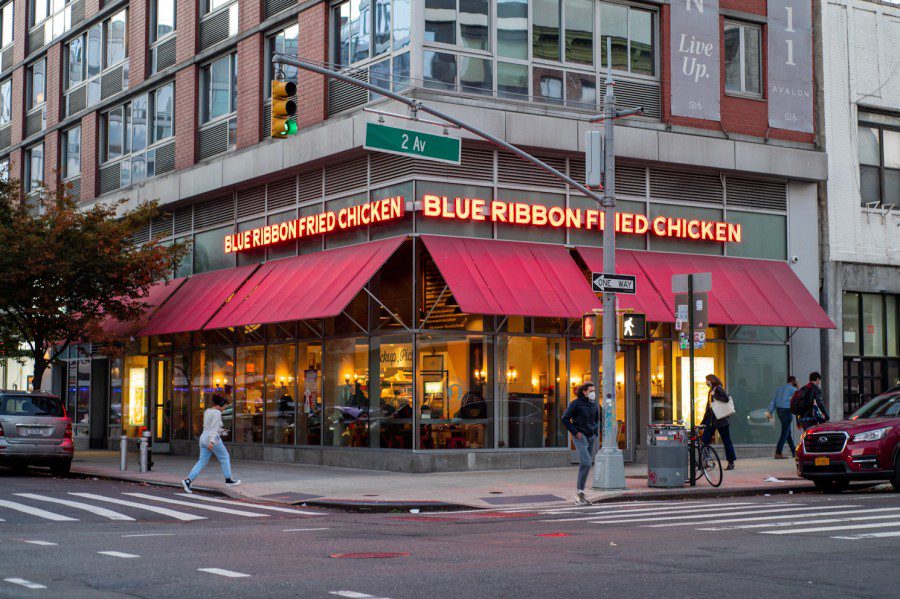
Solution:
[{"label": "grey wall banner reading AVALON at upper right", "polygon": [[813,132],[812,5],[768,0],[769,126]]}]

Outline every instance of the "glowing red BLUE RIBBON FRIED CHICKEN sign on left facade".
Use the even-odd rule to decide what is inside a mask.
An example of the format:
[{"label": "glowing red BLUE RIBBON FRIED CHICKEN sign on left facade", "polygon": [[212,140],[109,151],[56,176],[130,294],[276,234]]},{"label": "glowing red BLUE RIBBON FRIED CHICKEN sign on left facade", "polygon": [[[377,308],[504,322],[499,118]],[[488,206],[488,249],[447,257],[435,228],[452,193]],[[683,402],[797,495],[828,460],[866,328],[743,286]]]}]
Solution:
[{"label": "glowing red BLUE RIBBON FRIED CHICKEN sign on left facade", "polygon": [[374,200],[338,211],[327,210],[318,214],[301,216],[283,223],[258,227],[225,236],[225,253],[243,252],[255,248],[293,241],[313,235],[343,231],[374,223],[383,223],[403,216],[403,196]]}]

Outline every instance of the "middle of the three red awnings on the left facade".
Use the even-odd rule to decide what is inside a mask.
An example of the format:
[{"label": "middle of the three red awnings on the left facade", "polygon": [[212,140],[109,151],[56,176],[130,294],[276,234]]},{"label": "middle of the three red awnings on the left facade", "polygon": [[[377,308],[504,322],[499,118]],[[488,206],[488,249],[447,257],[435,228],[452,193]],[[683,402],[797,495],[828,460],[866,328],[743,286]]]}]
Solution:
[{"label": "middle of the three red awnings on the left facade", "polygon": [[192,276],[138,334],[143,337],[199,331],[258,267],[251,264]]}]

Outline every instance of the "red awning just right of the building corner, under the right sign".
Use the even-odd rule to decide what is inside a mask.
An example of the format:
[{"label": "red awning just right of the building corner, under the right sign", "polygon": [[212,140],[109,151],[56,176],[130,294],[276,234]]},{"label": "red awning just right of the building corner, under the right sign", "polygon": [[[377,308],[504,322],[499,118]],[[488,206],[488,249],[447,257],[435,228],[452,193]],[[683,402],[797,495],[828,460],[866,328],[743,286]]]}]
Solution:
[{"label": "red awning just right of the building corner, under the right sign", "polygon": [[464,312],[580,318],[600,307],[562,246],[431,235],[422,241]]}]

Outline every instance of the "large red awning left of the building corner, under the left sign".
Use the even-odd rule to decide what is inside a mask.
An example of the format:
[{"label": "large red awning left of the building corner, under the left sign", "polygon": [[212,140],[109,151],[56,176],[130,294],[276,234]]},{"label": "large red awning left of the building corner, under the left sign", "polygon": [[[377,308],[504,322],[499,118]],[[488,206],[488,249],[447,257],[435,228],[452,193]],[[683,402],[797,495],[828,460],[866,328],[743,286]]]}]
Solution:
[{"label": "large red awning left of the building corner, under the left sign", "polygon": [[337,316],[406,237],[266,262],[204,329]]}]

